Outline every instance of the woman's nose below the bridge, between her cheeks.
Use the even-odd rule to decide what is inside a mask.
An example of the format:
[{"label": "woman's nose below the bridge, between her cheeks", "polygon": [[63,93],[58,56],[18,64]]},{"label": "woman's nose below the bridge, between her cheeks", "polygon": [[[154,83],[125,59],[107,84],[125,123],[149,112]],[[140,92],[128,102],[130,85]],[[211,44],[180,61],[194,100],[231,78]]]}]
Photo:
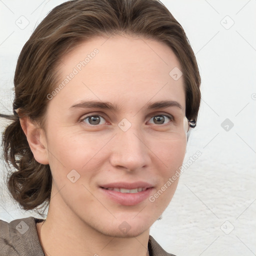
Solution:
[{"label": "woman's nose below the bridge, between her cheeks", "polygon": [[138,128],[117,131],[111,147],[110,163],[115,168],[134,171],[149,165],[150,149]]}]

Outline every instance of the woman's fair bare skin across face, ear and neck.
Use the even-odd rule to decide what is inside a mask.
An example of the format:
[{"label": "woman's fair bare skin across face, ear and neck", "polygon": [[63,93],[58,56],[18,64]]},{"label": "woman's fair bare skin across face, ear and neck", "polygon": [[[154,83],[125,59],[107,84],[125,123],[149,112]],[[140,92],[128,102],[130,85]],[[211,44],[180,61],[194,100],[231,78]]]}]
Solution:
[{"label": "woman's fair bare skin across face, ear and neck", "polygon": [[[37,224],[39,240],[50,256],[146,255],[149,228],[170,202],[178,178],[154,202],[147,198],[130,206],[112,201],[98,185],[146,181],[153,184],[153,195],[182,164],[183,77],[169,75],[181,67],[162,42],[131,35],[96,37],[63,56],[59,81],[94,48],[99,50],[95,57],[48,101],[44,130],[20,118],[35,159],[49,164],[53,178],[46,221]],[[115,103],[118,111],[69,109],[82,100]],[[175,100],[182,109],[146,109],[158,100]],[[100,124],[79,121],[91,114],[103,117]],[[164,124],[154,123],[157,114],[171,114],[175,122],[165,117]],[[131,123],[127,131],[118,127],[123,118]],[[72,169],[80,175],[74,183],[67,178]],[[118,228],[123,221],[130,226],[126,233]]]}]

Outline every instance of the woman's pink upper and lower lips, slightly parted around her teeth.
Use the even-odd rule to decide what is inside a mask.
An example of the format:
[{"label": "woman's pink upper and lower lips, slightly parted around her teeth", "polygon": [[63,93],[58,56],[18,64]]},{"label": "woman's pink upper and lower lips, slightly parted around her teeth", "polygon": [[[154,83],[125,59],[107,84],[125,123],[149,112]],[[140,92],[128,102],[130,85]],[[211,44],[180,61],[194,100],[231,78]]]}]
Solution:
[{"label": "woman's pink upper and lower lips, slightly parted around her teeth", "polygon": [[[140,191],[137,193],[122,193],[119,191],[105,189],[107,187],[122,187],[126,189],[146,187],[146,190]],[[105,196],[115,201],[116,203],[121,205],[131,206],[131,205],[136,205],[144,201],[146,198],[148,198],[153,189],[153,186],[147,182],[140,182],[140,181],[134,182],[134,183],[117,182],[117,183],[109,183],[109,184],[101,185],[99,189],[103,192]]]}]

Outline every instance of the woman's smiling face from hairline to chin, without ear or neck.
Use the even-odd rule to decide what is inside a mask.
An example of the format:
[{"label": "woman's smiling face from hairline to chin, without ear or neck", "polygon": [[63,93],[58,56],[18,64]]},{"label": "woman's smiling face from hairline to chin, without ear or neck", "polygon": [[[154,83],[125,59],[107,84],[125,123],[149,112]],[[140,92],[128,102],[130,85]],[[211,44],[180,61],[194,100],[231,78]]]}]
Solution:
[{"label": "woman's smiling face from hairline to chin, without ear or neck", "polygon": [[173,196],[185,153],[179,69],[167,45],[131,36],[96,37],[61,59],[43,140],[49,210],[108,235],[152,225]]}]

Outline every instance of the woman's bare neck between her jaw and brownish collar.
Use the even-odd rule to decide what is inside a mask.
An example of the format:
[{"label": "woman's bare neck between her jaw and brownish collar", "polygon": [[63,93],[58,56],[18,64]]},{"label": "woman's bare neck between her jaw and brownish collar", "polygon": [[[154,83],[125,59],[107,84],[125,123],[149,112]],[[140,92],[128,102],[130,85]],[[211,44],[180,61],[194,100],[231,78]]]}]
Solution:
[{"label": "woman's bare neck between her jaw and brownish collar", "polygon": [[80,218],[71,216],[68,214],[70,212],[57,212],[57,207],[53,207],[49,205],[46,220],[37,226],[45,256],[149,256],[149,229],[134,237],[109,236],[89,226]]}]

